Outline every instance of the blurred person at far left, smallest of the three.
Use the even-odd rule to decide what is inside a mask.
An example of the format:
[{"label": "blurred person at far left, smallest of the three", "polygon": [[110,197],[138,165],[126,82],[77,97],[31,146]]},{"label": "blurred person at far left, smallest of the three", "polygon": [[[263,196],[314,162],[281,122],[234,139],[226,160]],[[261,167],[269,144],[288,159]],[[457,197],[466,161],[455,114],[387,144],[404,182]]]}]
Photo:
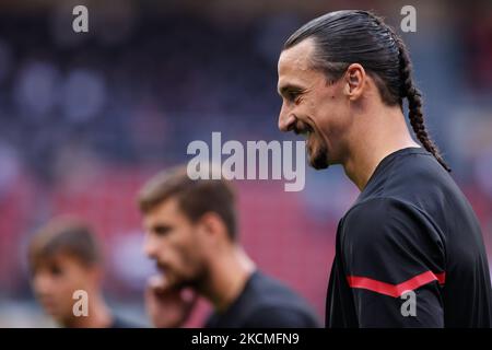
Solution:
[{"label": "blurred person at far left, smallest of the three", "polygon": [[[127,328],[112,315],[102,292],[102,256],[90,228],[75,219],[55,219],[31,241],[32,285],[43,308],[62,327]],[[87,316],[75,316],[73,293],[87,294]]]}]

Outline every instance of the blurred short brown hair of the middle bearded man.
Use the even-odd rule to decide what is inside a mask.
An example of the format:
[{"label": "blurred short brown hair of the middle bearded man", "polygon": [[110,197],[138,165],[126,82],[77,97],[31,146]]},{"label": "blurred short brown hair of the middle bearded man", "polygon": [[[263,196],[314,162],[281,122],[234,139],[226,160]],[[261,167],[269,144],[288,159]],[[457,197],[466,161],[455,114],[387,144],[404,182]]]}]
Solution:
[{"label": "blurred short brown hair of the middle bearded man", "polygon": [[140,190],[138,203],[148,213],[165,200],[176,198],[179,209],[191,222],[207,212],[216,213],[224,222],[229,236],[236,238],[235,192],[230,182],[191,179],[186,167],[164,171],[151,178]]}]

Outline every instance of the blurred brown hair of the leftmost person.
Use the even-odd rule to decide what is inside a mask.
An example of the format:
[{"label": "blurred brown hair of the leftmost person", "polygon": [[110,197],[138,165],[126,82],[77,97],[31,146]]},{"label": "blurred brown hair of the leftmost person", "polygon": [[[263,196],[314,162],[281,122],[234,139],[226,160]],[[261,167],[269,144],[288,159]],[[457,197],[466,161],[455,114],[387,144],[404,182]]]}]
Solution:
[{"label": "blurred brown hair of the leftmost person", "polygon": [[85,267],[98,265],[102,254],[91,228],[75,218],[57,218],[43,226],[30,242],[31,270],[58,254],[70,255]]}]

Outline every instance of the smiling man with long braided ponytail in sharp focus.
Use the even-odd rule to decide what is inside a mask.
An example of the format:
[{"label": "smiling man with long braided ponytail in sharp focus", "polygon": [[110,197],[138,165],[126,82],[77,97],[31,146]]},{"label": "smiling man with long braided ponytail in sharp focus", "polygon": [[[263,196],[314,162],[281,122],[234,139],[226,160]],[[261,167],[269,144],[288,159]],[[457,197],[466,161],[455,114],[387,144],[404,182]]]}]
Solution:
[{"label": "smiling man with long braided ponytail in sharp focus", "polygon": [[278,70],[279,128],[361,190],[338,226],[326,325],[490,327],[479,222],[429,137],[401,38],[370,12],[328,13],[292,34]]}]

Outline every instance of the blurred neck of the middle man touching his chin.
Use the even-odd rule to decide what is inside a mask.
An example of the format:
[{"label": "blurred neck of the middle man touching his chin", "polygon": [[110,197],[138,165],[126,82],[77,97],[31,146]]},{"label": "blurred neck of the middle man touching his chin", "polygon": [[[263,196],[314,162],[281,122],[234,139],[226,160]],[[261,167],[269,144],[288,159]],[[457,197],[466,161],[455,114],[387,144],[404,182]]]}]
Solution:
[{"label": "blurred neck of the middle man touching his chin", "polygon": [[241,295],[255,268],[244,250],[233,245],[211,264],[209,282],[201,292],[215,311],[223,312]]}]

